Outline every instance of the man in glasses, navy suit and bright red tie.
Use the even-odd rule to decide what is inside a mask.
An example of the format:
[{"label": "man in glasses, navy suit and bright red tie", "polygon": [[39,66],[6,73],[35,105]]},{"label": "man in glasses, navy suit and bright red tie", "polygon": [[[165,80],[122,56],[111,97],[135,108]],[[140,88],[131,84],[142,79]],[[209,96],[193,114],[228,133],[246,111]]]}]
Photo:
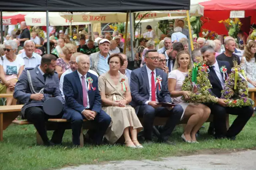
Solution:
[{"label": "man in glasses, navy suit and bright red tie", "polygon": [[[139,117],[143,117],[145,141],[152,141],[154,118],[156,116],[169,117],[166,124],[159,129],[158,142],[172,144],[167,139],[180,121],[183,109],[180,105],[166,108],[157,104],[172,101],[168,91],[167,74],[156,68],[158,60],[158,52],[149,50],[145,54],[146,66],[132,71],[130,82],[132,102],[130,105],[135,108]],[[157,79],[161,80],[160,84]]]}]

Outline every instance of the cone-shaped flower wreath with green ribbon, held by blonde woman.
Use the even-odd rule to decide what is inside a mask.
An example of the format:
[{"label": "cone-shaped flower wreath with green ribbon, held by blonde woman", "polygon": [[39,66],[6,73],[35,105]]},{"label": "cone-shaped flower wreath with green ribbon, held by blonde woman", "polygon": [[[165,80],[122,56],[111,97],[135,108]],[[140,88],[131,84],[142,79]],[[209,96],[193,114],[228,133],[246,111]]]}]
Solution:
[{"label": "cone-shaped flower wreath with green ribbon, held by blonde woman", "polygon": [[194,104],[217,102],[210,93],[212,85],[208,79],[208,72],[209,68],[202,57],[196,57],[193,69],[188,70],[182,85],[183,91],[190,92],[190,99],[187,102]]}]

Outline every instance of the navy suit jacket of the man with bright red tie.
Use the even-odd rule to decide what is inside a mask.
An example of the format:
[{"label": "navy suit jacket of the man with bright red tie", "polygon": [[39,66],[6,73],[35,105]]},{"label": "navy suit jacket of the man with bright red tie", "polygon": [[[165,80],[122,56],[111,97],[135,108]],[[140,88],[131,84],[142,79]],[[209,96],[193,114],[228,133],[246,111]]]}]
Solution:
[{"label": "navy suit jacket of the man with bright red tie", "polygon": [[[160,76],[162,78],[162,89],[159,91],[158,86],[156,87],[156,97],[158,101],[171,102],[172,99],[170,92],[168,91],[167,74],[163,72],[163,70],[156,68],[156,76]],[[136,113],[138,113],[139,107],[137,106],[145,105],[150,97],[148,72],[146,66],[137,68],[131,72],[130,90],[132,95],[132,102],[130,105],[134,107]]]}]

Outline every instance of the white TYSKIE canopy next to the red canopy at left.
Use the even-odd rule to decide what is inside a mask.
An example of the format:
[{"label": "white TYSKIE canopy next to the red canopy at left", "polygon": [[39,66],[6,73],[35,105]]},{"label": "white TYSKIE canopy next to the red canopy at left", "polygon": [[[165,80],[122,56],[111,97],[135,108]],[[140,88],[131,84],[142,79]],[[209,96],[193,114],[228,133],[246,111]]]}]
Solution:
[{"label": "white TYSKIE canopy next to the red canopy at left", "polygon": [[[46,26],[46,12],[30,12],[25,16],[27,25]],[[59,15],[58,12],[49,12],[49,22],[52,26],[87,25],[88,22],[71,22]]]}]

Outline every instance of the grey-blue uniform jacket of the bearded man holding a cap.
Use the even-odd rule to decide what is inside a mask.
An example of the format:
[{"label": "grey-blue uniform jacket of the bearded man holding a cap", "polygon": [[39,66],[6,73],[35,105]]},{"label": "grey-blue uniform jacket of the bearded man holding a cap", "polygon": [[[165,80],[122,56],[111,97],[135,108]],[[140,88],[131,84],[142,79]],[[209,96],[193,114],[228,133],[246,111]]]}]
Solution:
[{"label": "grey-blue uniform jacket of the bearded man holding a cap", "polygon": [[[44,88],[44,100],[36,101],[30,99],[31,94],[33,93],[31,92],[28,83],[27,70],[29,70],[30,72],[34,90],[38,93],[42,88]],[[18,79],[18,82],[15,85],[13,97],[24,103],[24,106],[21,109],[21,113],[23,116],[26,108],[33,106],[43,106],[44,101],[49,98],[55,97],[62,101],[62,103],[64,102],[60,94],[59,78],[57,72],[54,72],[53,76],[48,75],[46,77],[46,81],[44,81],[44,77],[38,69],[38,66],[36,66],[35,68],[26,68],[25,70],[23,70],[22,74]]]}]

